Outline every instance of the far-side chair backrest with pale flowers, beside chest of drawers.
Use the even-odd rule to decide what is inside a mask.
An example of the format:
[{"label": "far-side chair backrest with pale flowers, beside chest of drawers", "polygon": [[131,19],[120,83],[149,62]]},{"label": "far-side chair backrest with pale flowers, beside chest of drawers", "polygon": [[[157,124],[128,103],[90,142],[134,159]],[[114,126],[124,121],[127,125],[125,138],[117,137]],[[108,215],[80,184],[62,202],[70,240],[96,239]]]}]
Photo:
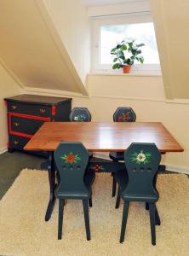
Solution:
[{"label": "far-side chair backrest with pale flowers, beside chest of drawers", "polygon": [[73,108],[70,114],[71,122],[90,122],[91,114],[88,108]]}]

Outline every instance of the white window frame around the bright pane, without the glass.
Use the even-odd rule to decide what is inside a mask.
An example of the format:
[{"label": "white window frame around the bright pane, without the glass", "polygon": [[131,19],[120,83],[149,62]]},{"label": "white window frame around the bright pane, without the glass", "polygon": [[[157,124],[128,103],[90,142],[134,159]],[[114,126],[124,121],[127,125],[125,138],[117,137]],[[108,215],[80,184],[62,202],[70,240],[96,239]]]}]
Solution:
[{"label": "white window frame around the bright pane, without the glass", "polygon": [[[106,15],[93,17],[91,35],[91,73],[123,73],[121,69],[113,70],[111,64],[100,65],[100,26],[123,25],[152,22],[149,11],[129,13],[124,15]],[[133,74],[158,74],[161,75],[159,64],[135,64],[131,73]]]}]

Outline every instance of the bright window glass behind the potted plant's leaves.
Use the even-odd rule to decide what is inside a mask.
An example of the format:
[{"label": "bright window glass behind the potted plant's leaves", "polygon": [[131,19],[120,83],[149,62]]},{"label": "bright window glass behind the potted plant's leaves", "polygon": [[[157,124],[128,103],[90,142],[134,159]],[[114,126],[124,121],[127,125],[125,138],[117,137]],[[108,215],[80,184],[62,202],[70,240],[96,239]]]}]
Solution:
[{"label": "bright window glass behind the potted plant's leaves", "polygon": [[112,64],[111,49],[122,40],[135,39],[143,43],[144,64],[159,64],[158,48],[152,22],[100,27],[100,64]]}]

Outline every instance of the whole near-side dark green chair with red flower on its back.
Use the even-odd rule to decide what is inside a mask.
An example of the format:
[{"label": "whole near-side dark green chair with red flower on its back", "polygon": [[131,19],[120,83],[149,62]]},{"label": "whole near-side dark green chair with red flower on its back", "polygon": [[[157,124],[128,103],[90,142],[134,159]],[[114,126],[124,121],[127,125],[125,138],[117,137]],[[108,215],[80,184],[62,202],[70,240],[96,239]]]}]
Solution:
[{"label": "whole near-side dark green chair with red flower on its back", "polygon": [[[89,151],[82,143],[62,142],[54,151],[60,181],[55,196],[59,199],[58,239],[62,236],[63,210],[66,199],[83,201],[87,240],[90,240],[89,206],[92,207],[92,183],[95,172],[88,169]],[[88,206],[89,202],[89,206]]]}]

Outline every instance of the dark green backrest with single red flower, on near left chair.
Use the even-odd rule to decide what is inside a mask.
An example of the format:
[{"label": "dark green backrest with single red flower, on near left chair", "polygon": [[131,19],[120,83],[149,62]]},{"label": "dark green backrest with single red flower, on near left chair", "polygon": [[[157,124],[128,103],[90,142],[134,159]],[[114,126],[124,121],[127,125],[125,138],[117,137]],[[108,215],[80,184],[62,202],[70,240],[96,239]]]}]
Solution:
[{"label": "dark green backrest with single red flower, on near left chair", "polygon": [[54,162],[60,174],[57,193],[75,197],[88,195],[84,174],[89,163],[89,151],[82,143],[62,142],[54,151]]}]

